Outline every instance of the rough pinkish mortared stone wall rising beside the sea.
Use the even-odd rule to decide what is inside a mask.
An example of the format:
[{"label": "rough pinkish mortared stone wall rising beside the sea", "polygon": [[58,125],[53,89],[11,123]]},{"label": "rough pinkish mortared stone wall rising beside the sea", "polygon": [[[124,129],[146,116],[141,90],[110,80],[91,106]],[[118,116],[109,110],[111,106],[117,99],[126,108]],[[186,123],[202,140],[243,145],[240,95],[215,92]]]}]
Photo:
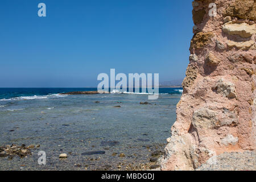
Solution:
[{"label": "rough pinkish mortared stone wall rising beside the sea", "polygon": [[195,170],[224,152],[256,148],[256,0],[192,5],[195,35],[162,170]]}]

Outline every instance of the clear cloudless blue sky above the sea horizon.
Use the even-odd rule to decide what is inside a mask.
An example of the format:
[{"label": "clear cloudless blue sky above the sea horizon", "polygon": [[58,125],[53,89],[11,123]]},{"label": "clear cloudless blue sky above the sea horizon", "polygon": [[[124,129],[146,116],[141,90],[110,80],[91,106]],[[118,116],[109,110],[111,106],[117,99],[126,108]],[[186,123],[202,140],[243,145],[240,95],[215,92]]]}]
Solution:
[{"label": "clear cloudless blue sky above the sea horizon", "polygon": [[[38,16],[46,3],[47,17]],[[192,0],[1,0],[0,87],[97,86],[97,75],[185,76]]]}]

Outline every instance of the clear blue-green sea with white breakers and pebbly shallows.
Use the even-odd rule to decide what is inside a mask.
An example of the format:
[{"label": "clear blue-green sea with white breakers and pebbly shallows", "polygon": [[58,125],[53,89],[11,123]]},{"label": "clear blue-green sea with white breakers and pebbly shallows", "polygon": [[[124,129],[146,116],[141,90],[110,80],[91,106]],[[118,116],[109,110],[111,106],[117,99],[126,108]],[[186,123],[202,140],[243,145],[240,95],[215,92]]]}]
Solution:
[{"label": "clear blue-green sea with white breakers and pebbly shallows", "polygon": [[[40,144],[27,158],[0,158],[0,170],[125,170],[163,150],[182,88],[159,88],[158,100],[147,93],[59,94],[93,90],[0,88],[0,146]],[[39,151],[46,165],[38,164]],[[60,160],[62,153],[68,158]]]}]

